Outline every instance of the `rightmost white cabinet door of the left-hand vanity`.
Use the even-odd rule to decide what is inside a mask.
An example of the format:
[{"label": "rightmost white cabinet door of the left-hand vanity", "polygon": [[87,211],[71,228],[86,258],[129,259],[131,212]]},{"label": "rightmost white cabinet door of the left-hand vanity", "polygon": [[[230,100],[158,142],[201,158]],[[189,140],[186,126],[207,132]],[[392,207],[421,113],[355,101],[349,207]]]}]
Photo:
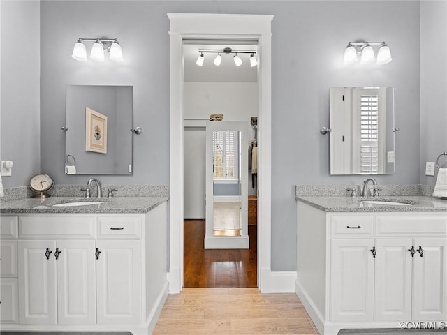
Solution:
[{"label": "rightmost white cabinet door of the left-hand vanity", "polygon": [[141,320],[140,241],[96,241],[98,324]]}]

